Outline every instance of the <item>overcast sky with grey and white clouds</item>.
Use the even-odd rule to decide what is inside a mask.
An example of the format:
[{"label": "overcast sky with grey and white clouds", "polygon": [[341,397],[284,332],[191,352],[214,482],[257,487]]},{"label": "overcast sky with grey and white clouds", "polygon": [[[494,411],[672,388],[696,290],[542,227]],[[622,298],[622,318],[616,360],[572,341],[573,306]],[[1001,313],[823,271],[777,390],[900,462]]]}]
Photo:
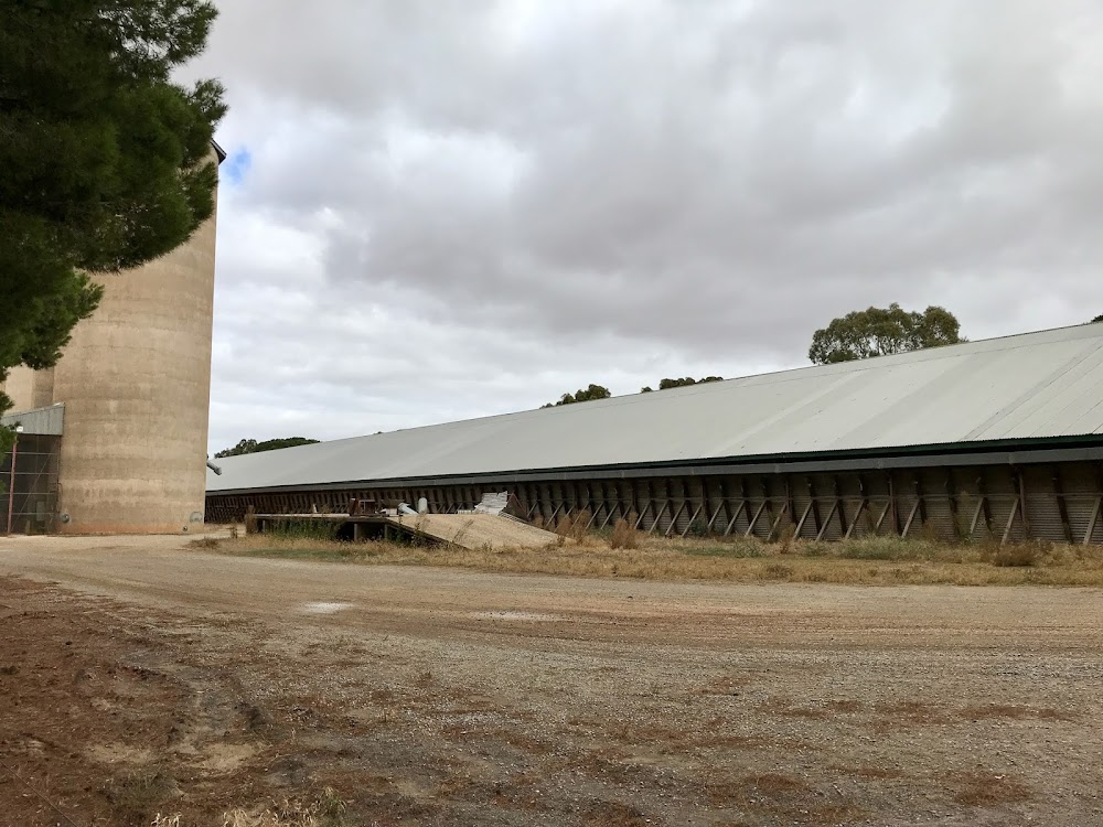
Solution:
[{"label": "overcast sky with grey and white clouds", "polygon": [[1097,0],[219,0],[211,448],[1103,313]]}]

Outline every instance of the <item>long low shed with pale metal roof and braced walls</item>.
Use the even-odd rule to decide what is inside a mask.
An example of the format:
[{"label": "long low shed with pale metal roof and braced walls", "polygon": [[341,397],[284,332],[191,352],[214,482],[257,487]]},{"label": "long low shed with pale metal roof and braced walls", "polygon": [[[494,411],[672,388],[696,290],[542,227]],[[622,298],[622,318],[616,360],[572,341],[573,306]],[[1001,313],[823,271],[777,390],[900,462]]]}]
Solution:
[{"label": "long low shed with pale metal roof and braced walls", "polygon": [[645,531],[1103,543],[1103,324],[233,457],[207,522],[510,492]]}]

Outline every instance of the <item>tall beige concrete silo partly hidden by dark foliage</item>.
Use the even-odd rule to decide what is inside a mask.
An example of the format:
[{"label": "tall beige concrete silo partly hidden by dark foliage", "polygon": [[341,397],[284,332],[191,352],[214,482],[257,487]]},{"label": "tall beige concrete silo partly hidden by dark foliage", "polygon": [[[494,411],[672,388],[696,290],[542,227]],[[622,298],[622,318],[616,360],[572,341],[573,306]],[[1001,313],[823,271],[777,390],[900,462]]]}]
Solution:
[{"label": "tall beige concrete silo partly hidden by dark foliage", "polygon": [[99,308],[57,365],[11,372],[12,412],[64,404],[54,530],[180,533],[202,522],[215,225],[105,276]]}]

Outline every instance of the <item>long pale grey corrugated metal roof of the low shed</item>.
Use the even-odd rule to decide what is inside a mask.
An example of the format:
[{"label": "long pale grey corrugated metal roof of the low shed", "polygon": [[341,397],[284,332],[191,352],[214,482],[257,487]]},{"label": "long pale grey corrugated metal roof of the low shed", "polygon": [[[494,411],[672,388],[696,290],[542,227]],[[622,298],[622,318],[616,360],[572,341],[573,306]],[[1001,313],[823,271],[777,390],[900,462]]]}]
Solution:
[{"label": "long pale grey corrugated metal roof of the low shed", "polygon": [[207,490],[1103,433],[1103,324],[219,460]]}]

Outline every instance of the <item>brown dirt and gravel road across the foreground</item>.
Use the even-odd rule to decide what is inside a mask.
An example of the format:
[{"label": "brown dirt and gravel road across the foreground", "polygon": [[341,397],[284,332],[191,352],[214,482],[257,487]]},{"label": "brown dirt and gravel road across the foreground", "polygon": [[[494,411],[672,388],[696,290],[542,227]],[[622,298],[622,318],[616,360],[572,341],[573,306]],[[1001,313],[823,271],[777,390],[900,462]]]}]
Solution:
[{"label": "brown dirt and gravel road across the foreground", "polygon": [[578,580],[180,538],[0,538],[4,576],[11,824],[1103,824],[1099,590]]}]

